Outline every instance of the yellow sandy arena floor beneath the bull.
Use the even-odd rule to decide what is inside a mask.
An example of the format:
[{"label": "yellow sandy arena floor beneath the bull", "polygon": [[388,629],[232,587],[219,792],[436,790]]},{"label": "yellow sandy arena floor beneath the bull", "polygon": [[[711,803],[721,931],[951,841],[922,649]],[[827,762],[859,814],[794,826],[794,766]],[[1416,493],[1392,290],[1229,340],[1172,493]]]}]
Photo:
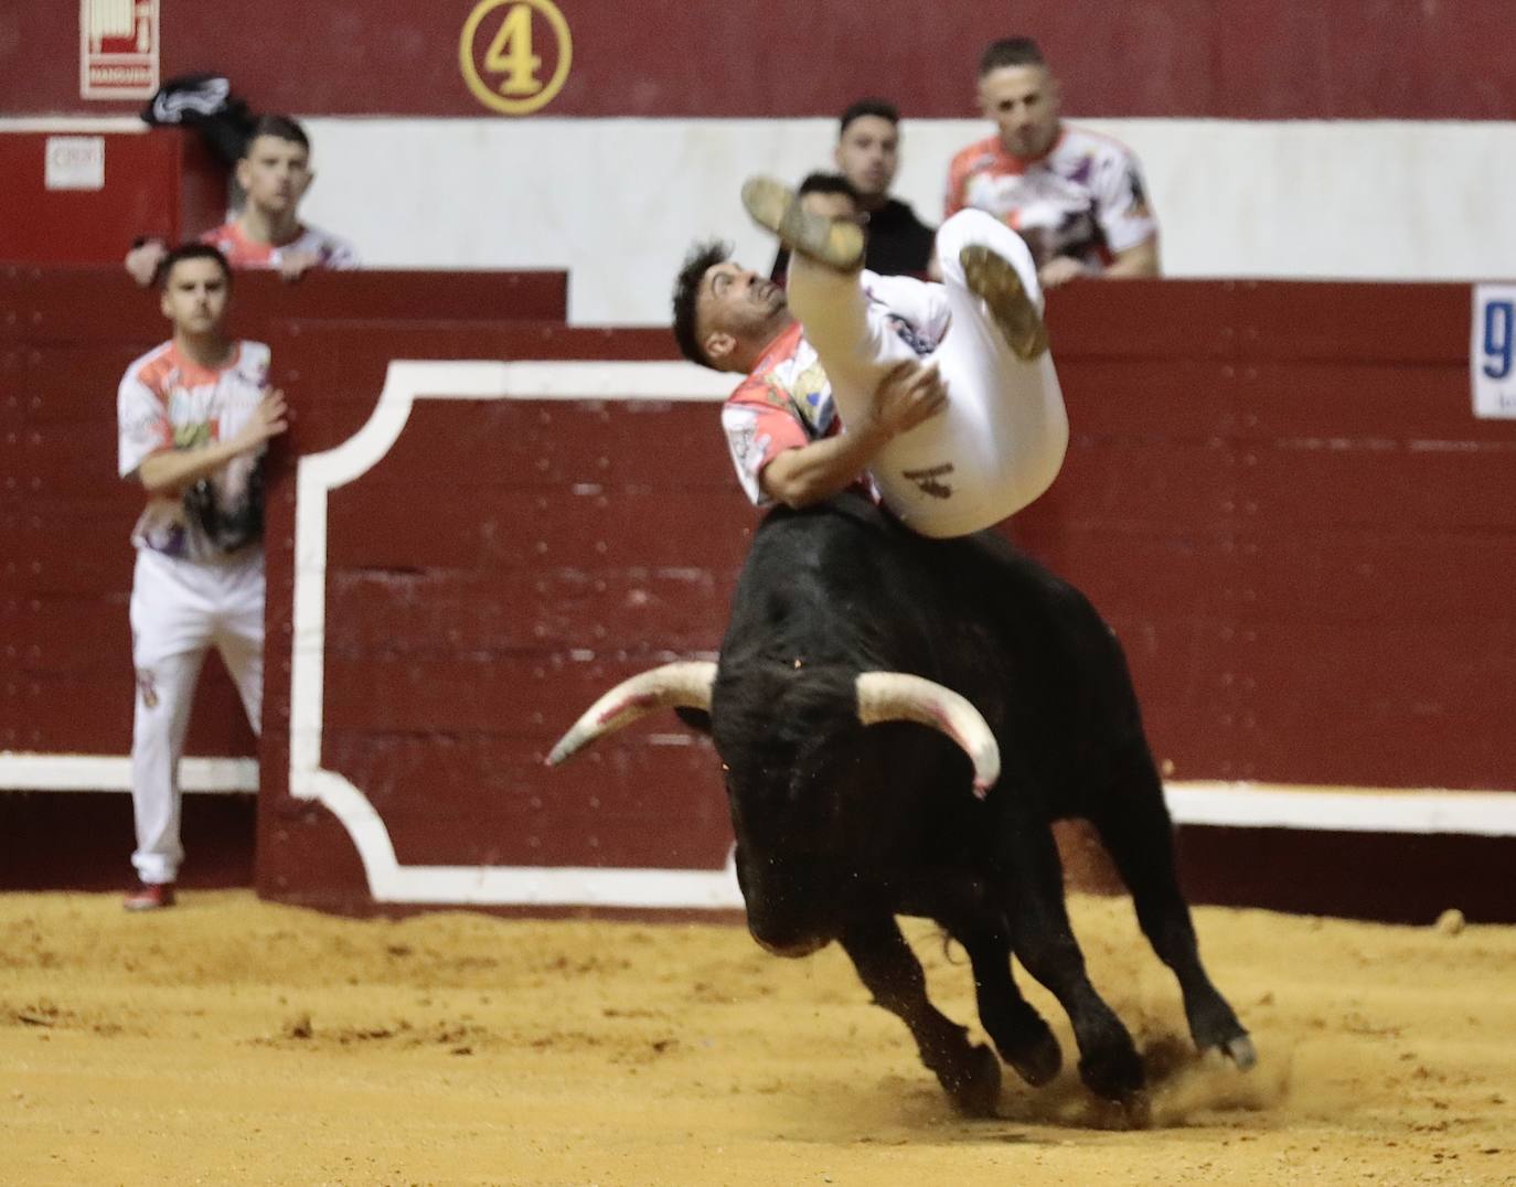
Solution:
[{"label": "yellow sandy arena floor beneath the bull", "polygon": [[[1007,1072],[1001,1119],[960,1120],[835,946],[3,896],[0,1179],[1516,1184],[1516,928],[1199,911],[1258,1043],[1242,1075],[1176,1058],[1178,990],[1125,899],[1073,911],[1096,985],[1167,1067],[1151,1128],[1067,1070],[1040,1091]],[[910,935],[972,1022],[958,954]],[[1067,1057],[1063,1014],[1028,996]]]}]

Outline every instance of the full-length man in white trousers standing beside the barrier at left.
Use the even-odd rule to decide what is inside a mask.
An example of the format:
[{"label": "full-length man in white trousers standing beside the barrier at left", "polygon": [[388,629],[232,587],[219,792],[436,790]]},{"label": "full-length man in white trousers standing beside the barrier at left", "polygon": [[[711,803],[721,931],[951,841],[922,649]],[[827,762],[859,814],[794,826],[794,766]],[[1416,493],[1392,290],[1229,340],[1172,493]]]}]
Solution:
[{"label": "full-length man in white trousers standing beside the barrier at left", "polygon": [[285,431],[268,347],[223,330],[232,271],[208,244],[168,253],[161,308],[173,338],[126,368],[117,394],[120,474],[147,493],[132,532],[132,806],[141,887],[129,911],[171,907],[179,759],[206,650],[221,652],[259,729],[264,676],[262,456]]}]

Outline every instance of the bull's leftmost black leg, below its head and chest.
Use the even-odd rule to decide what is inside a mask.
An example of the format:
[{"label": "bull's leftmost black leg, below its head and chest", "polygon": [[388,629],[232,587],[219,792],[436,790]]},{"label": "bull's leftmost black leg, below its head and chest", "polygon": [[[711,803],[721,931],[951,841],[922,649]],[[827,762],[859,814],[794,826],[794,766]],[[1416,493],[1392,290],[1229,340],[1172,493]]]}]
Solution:
[{"label": "bull's leftmost black leg, below its head and chest", "polygon": [[922,963],[894,919],[850,926],[841,944],[875,1002],[910,1028],[922,1063],[937,1073],[958,1110],[993,1117],[1001,1099],[1001,1064],[994,1052],[969,1043],[967,1029],[928,1001]]}]

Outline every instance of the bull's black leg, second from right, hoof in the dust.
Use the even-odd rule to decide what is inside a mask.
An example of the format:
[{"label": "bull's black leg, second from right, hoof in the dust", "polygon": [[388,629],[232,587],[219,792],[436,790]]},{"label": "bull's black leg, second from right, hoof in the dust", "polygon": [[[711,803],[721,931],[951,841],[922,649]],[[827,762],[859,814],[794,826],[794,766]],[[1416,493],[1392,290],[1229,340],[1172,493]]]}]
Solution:
[{"label": "bull's black leg, second from right, hoof in the dust", "polygon": [[1126,1026],[1090,984],[1063,902],[1063,867],[1052,831],[1017,822],[1007,841],[1014,885],[1007,908],[1016,958],[1067,1011],[1079,1043],[1079,1076],[1090,1090],[1108,1101],[1131,1101],[1143,1087],[1142,1060]]}]

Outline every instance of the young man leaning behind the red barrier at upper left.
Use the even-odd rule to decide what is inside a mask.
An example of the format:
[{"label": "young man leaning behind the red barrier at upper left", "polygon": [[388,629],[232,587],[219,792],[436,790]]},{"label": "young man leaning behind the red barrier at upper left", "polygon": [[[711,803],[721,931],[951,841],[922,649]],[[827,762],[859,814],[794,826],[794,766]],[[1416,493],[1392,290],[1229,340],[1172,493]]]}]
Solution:
[{"label": "young man leaning behind the red barrier at upper left", "polygon": [[[300,199],[312,180],[305,129],[287,115],[264,115],[236,162],[243,209],[200,243],[215,246],[233,268],[274,268],[287,280],[311,268],[358,267],[349,243],[300,221]],[[126,270],[150,285],[167,253],[165,244],[150,240],[127,253]]]}]

